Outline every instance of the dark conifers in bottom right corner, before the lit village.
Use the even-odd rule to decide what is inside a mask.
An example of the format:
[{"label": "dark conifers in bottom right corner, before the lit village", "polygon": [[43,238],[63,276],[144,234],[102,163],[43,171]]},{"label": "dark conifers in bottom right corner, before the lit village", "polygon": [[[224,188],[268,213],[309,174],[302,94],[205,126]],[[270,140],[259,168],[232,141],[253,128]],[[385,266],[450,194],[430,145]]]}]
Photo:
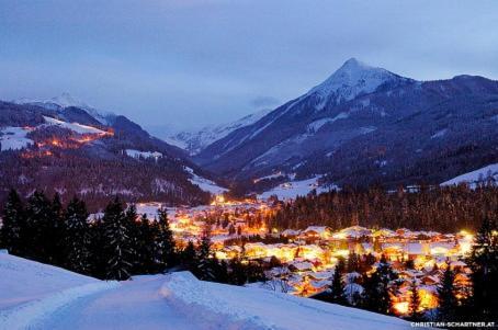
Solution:
[{"label": "dark conifers in bottom right corner, before the lit village", "polygon": [[[421,295],[419,283],[411,281],[409,286],[408,315],[414,321],[431,320],[446,322],[494,322],[498,320],[498,224],[495,219],[485,218],[477,231],[472,252],[466,259],[472,273],[471,285],[462,286],[455,281],[461,271],[452,269],[450,263],[444,271],[439,272],[437,286],[438,308],[423,314],[420,311]],[[387,260],[382,257],[374,272],[371,266],[375,263],[372,255],[351,253],[348,261],[340,258],[335,269],[332,282],[328,291],[317,298],[329,303],[359,307],[375,312],[393,315],[394,297],[404,280],[398,278]],[[414,262],[407,261],[407,270],[414,270]],[[434,270],[437,266],[434,265]],[[356,283],[362,291],[350,294],[344,277],[348,274],[359,274],[358,277],[347,278],[348,285]]]}]

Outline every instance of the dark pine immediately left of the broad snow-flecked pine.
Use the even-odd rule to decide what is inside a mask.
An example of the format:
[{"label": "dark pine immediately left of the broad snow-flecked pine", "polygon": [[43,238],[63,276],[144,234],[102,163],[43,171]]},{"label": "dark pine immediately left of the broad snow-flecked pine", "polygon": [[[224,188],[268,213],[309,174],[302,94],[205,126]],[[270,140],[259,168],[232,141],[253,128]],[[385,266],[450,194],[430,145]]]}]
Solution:
[{"label": "dark pine immediately left of the broad snow-flecked pine", "polygon": [[66,228],[66,265],[75,272],[90,274],[91,235],[90,225],[87,221],[88,212],[84,202],[75,196],[69,202],[64,218]]}]

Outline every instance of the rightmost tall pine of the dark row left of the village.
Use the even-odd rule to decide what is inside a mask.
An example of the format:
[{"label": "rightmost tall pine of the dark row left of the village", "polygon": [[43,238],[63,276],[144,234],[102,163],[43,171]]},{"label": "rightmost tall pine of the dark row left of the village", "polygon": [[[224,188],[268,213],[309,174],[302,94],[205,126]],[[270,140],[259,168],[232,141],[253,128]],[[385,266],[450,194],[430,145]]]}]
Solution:
[{"label": "rightmost tall pine of the dark row left of the village", "polygon": [[166,266],[176,262],[174,238],[170,229],[168,213],[166,209],[158,209],[158,235],[156,237],[156,260],[158,261],[159,272],[163,272]]}]

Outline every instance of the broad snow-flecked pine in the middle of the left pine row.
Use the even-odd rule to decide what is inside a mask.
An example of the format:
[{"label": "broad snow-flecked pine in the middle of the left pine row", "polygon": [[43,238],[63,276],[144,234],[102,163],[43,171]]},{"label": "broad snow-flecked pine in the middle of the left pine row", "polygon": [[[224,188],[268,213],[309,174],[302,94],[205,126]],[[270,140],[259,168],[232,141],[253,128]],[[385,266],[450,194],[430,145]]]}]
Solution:
[{"label": "broad snow-flecked pine in the middle of the left pine row", "polygon": [[128,223],[117,197],[105,207],[102,218],[104,228],[107,280],[128,280],[133,268],[133,253],[128,241]]}]

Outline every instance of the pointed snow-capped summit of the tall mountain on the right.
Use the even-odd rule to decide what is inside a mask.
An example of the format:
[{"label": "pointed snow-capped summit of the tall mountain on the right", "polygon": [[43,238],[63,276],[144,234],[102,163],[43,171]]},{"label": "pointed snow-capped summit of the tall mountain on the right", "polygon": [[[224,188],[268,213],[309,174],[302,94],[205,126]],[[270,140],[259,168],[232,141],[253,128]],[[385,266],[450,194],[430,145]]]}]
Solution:
[{"label": "pointed snow-capped summit of the tall mountain on the right", "polygon": [[352,57],[322,83],[313,88],[322,100],[333,98],[336,103],[350,101],[360,94],[372,93],[381,84],[393,80],[407,80],[383,68],[371,67]]}]

